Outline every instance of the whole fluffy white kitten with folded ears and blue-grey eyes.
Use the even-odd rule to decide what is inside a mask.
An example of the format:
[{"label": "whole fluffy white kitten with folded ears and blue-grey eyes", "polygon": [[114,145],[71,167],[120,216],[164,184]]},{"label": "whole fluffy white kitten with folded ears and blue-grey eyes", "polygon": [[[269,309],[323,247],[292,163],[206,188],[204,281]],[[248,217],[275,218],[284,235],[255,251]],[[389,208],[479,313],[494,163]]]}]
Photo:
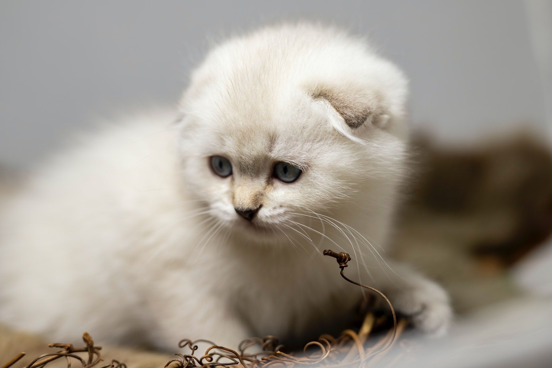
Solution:
[{"label": "whole fluffy white kitten with folded ears and blue-grey eyes", "polygon": [[362,297],[322,257],[331,248],[418,327],[444,330],[445,292],[381,250],[406,94],[394,65],[335,29],[225,42],[193,73],[177,126],[158,114],[104,129],[13,198],[0,318],[59,341],[87,330],[168,350],[295,337]]}]

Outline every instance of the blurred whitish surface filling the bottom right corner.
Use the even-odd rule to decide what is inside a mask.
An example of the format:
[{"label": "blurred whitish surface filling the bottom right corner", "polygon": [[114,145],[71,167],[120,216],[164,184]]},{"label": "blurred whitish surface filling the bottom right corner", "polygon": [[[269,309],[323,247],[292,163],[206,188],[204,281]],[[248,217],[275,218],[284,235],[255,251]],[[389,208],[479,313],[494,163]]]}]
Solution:
[{"label": "blurred whitish surface filling the bottom right corner", "polygon": [[392,367],[550,367],[552,299],[523,298],[491,306],[459,319],[447,337],[424,340]]}]

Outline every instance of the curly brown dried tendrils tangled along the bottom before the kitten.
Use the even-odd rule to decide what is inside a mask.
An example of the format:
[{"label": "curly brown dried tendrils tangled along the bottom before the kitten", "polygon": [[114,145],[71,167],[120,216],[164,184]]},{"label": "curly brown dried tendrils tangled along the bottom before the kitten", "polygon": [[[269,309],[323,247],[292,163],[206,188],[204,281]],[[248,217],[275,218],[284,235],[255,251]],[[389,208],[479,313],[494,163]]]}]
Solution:
[{"label": "curly brown dried tendrils tangled along the bottom before the kitten", "polygon": [[[323,334],[317,341],[306,344],[302,354],[284,353],[282,351],[284,346],[279,344],[278,339],[273,336],[244,340],[238,347],[239,352],[225,348],[224,346],[216,345],[209,340],[192,341],[183,339],[179,342],[178,346],[179,348],[189,349],[189,353],[177,353],[176,355],[178,358],[169,360],[164,368],[298,368],[307,366],[341,368],[365,367],[375,364],[385,354],[384,352],[394,345],[396,338],[400,335],[402,330],[404,330],[407,322],[403,319],[397,324],[395,310],[389,299],[382,292],[373,287],[349,280],[343,274],[343,269],[347,267],[347,262],[351,260],[349,254],[344,252],[336,253],[332,250],[324,250],[323,254],[337,259],[343,279],[378,293],[389,304],[393,318],[393,328],[373,346],[369,348],[364,347],[368,335],[376,322],[374,314],[369,312],[365,316],[362,327],[360,327],[358,333],[351,329],[346,329],[337,338],[328,334]],[[87,332],[82,335],[82,338],[86,346],[79,348],[71,344],[50,344],[49,346],[51,348],[62,348],[62,350],[57,351],[57,353],[40,355],[24,368],[43,368],[46,364],[61,358],[66,359],[67,368],[71,368],[71,358],[76,359],[81,364],[81,368],[92,368],[96,366],[102,361],[102,355],[100,353],[102,348],[100,346],[94,346],[92,337]],[[208,343],[211,344],[211,346],[205,350],[205,354],[198,356],[195,355],[198,350],[198,343]],[[249,353],[247,350],[251,349],[253,346],[261,346],[261,351],[258,353]],[[76,353],[87,353],[87,356],[82,358],[82,356]],[[24,355],[25,353],[20,353],[6,364],[0,366],[0,368],[12,367],[19,359],[23,358]],[[117,360],[112,360],[110,364],[101,365],[95,368],[126,368],[126,365]]]}]

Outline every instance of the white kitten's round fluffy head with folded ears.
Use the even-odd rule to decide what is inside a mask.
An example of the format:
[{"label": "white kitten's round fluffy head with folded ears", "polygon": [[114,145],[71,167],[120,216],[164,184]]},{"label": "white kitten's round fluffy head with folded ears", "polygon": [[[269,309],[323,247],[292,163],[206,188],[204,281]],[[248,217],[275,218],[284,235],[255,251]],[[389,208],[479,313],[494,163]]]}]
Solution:
[{"label": "white kitten's round fluffy head with folded ears", "polygon": [[258,237],[344,203],[381,209],[402,171],[405,98],[394,65],[335,29],[227,41],[183,98],[185,187],[222,226]]}]

